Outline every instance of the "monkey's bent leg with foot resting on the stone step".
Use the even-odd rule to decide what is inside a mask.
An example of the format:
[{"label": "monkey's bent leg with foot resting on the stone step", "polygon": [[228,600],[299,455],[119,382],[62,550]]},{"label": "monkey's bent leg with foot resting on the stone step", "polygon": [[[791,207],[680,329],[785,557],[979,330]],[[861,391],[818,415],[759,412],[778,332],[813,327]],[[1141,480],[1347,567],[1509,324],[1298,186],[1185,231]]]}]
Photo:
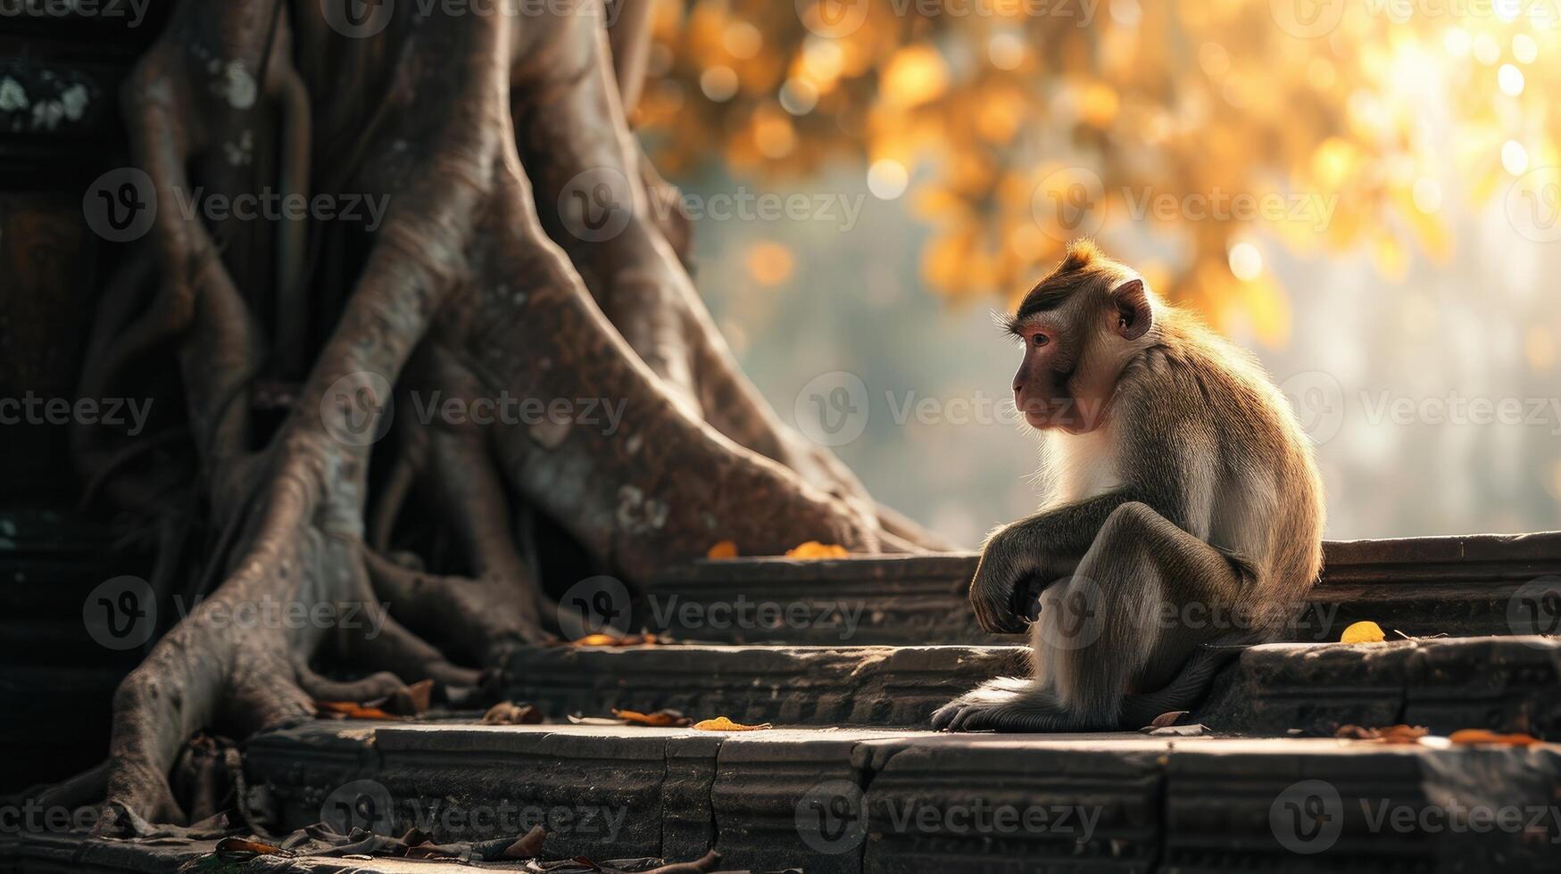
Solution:
[{"label": "monkey's bent leg with foot resting on the stone step", "polygon": [[1166,685],[1197,645],[1214,637],[1216,629],[1186,620],[1229,610],[1241,585],[1222,552],[1146,504],[1122,504],[1079,573],[1041,593],[1032,626],[1035,677],[1022,685],[991,680],[933,713],[933,727],[1122,727],[1129,691]]}]

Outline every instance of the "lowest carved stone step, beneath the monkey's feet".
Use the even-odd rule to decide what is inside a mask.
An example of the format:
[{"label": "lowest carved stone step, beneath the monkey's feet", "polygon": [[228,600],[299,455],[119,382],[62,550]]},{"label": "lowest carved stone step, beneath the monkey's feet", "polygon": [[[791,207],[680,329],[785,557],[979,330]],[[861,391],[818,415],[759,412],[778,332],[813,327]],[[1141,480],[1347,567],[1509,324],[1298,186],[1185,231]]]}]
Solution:
[{"label": "lowest carved stone step, beneath the monkey's feet", "polygon": [[1555,744],[326,723],[251,740],[247,774],[284,829],[543,819],[548,857],[810,874],[1553,871],[1561,847]]}]

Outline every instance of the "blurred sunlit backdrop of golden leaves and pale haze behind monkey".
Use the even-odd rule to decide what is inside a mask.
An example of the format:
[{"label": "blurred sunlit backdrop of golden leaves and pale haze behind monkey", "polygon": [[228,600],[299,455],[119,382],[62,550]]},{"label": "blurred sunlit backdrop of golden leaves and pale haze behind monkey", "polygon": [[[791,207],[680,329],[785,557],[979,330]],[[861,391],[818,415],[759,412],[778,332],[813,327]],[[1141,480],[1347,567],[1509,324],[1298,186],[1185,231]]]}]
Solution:
[{"label": "blurred sunlit backdrop of golden leaves and pale haze behind monkey", "polygon": [[1094,236],[1268,365],[1328,537],[1561,528],[1561,5],[663,2],[635,123],[782,417],[965,546],[993,326]]}]

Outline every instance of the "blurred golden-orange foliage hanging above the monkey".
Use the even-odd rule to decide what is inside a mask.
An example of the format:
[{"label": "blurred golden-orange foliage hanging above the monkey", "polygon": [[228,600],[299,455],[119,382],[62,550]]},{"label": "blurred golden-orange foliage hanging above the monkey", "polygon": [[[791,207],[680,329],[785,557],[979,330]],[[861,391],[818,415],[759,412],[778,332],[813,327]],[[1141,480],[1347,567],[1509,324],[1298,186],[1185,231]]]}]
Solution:
[{"label": "blurred golden-orange foliage hanging above the monkey", "polygon": [[[1561,164],[1545,87],[1561,76],[1561,31],[1525,16],[1403,22],[1346,3],[1319,12],[1338,16],[1332,28],[1296,33],[1316,25],[1261,0],[1111,5],[1088,22],[1063,6],[976,3],[982,14],[890,0],[659,3],[667,61],[652,64],[635,119],[668,169],[712,150],[754,173],[899,161],[935,226],[923,276],[951,298],[1007,298],[1071,236],[1152,225],[1186,253],[1165,264],[1161,289],[1266,343],[1286,340],[1289,300],[1266,275],[1230,276],[1233,240],[1366,253],[1399,278],[1416,254],[1452,250],[1442,200],[1478,209],[1514,181],[1549,186],[1534,169]],[[1502,94],[1502,64],[1520,69],[1519,94]],[[718,67],[738,76],[735,94],[701,91]],[[782,100],[788,80],[802,105]],[[1424,122],[1431,103],[1445,125]],[[1417,192],[1444,151],[1452,172]],[[1058,197],[1072,197],[1068,220]],[[1238,212],[1238,197],[1272,208]],[[1160,200],[1172,208],[1121,209]],[[1232,209],[1186,206],[1204,203]]]}]

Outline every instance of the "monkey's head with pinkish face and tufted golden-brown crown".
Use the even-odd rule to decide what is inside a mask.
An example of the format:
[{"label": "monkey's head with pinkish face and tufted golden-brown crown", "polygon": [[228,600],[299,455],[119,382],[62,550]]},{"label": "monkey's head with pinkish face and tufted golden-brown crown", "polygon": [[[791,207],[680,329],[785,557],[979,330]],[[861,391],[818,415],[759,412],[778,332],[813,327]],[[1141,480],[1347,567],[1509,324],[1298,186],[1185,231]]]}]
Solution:
[{"label": "monkey's head with pinkish face and tufted golden-brown crown", "polygon": [[1147,343],[1155,323],[1144,279],[1090,240],[1041,279],[1007,318],[1024,343],[1013,375],[1013,403],[1032,428],[1088,434],[1110,414],[1111,393],[1127,362]]}]

